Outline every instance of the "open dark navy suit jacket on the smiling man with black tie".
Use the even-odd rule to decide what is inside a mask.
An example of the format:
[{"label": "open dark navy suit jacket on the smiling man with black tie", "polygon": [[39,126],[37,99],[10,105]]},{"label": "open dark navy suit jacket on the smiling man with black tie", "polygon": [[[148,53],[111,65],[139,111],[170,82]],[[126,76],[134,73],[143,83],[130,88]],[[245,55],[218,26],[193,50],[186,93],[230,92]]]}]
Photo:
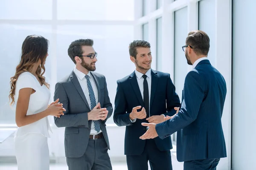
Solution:
[{"label": "open dark navy suit jacket on the smiling man with black tie", "polygon": [[[176,113],[174,107],[179,107],[180,99],[175,93],[170,74],[151,70],[151,97],[150,116],[165,114],[172,116]],[[144,107],[143,98],[137,82],[135,71],[123,79],[117,80],[115,109],[113,119],[116,125],[126,126],[125,155],[140,155],[145,147],[145,140],[140,139],[146,128],[142,122],[146,119],[137,119],[132,123],[129,114],[136,106]],[[138,110],[138,111],[141,111]],[[148,113],[147,113],[148,117]],[[157,148],[161,151],[172,149],[171,137],[165,139],[155,138]]]}]

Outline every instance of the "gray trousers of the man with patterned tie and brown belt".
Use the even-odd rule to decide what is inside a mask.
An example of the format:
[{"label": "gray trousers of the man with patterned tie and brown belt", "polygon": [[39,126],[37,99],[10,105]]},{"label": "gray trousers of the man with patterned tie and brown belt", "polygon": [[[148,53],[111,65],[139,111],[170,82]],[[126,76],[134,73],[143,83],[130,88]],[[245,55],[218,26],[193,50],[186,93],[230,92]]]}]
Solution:
[{"label": "gray trousers of the man with patterned tie and brown belt", "polygon": [[89,139],[84,155],[67,157],[67,166],[69,170],[112,170],[105,139]]}]

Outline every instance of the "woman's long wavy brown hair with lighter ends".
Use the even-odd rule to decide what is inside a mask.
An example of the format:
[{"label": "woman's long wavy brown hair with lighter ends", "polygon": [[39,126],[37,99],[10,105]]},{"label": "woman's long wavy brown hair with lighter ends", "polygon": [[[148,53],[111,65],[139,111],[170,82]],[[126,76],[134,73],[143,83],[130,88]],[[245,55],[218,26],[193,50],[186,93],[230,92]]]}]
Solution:
[{"label": "woman's long wavy brown hair with lighter ends", "polygon": [[43,76],[45,72],[44,62],[47,57],[49,41],[39,35],[29,35],[26,37],[22,44],[20,63],[16,67],[16,72],[10,81],[10,94],[9,100],[12,101],[10,105],[15,103],[15,88],[18,77],[21,73],[26,71],[31,71],[33,66],[41,60],[41,65],[38,66],[36,75],[38,76],[40,82],[49,88],[49,84],[45,82],[45,77]]}]

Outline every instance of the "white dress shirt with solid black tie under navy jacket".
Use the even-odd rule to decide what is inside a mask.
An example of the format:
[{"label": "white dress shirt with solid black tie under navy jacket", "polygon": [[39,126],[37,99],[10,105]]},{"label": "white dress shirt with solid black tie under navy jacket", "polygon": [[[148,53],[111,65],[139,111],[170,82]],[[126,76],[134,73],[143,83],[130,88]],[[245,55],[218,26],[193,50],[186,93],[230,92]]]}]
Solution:
[{"label": "white dress shirt with solid black tie under navy jacket", "polygon": [[[135,74],[137,77],[137,82],[140,88],[140,94],[142,96],[142,99],[144,99],[144,95],[143,95],[143,91],[144,91],[144,87],[143,87],[143,82],[144,82],[144,78],[142,77],[144,74],[140,73],[139,71],[135,70]],[[151,94],[151,69],[149,69],[145,75],[147,76],[147,82],[148,82],[148,97],[149,97],[149,116],[150,116],[150,94]],[[131,120],[131,122],[136,122],[136,119]]]}]

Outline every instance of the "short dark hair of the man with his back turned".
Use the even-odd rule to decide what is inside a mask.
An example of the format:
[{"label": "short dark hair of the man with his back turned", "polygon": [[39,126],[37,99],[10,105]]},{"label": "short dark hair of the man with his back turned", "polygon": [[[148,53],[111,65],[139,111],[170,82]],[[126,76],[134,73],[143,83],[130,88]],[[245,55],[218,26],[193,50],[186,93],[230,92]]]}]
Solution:
[{"label": "short dark hair of the man with his back turned", "polygon": [[191,45],[198,55],[207,55],[210,48],[210,39],[204,31],[195,30],[189,32],[186,38],[186,45]]}]

